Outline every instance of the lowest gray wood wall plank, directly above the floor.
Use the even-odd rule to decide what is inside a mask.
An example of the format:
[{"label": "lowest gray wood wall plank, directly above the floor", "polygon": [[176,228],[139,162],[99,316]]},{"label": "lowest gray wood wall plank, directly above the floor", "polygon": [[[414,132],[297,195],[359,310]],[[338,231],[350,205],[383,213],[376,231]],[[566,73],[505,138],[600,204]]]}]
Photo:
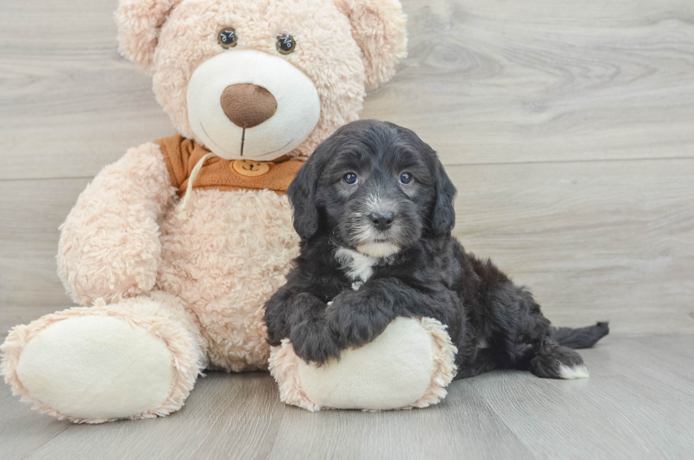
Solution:
[{"label": "lowest gray wood wall plank, directly above the floor", "polygon": [[[455,234],[528,285],[555,324],[694,333],[694,161],[449,166]],[[72,303],[57,227],[87,179],[0,181],[0,326]]]}]

